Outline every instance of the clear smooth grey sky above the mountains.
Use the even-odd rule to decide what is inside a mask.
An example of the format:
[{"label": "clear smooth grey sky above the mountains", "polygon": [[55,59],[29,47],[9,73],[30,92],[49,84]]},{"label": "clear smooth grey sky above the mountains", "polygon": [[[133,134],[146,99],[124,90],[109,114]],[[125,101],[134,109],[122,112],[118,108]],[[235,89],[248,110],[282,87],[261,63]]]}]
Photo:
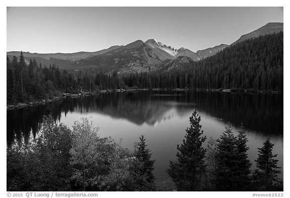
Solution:
[{"label": "clear smooth grey sky above the mountains", "polygon": [[155,38],[196,52],[269,22],[283,22],[283,8],[8,7],[7,51],[98,51]]}]

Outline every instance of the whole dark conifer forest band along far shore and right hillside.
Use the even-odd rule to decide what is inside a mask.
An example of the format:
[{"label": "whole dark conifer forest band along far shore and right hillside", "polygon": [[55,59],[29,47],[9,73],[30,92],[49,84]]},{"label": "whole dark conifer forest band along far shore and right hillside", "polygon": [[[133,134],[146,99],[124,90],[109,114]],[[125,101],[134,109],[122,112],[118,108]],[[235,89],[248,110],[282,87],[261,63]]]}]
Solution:
[{"label": "whole dark conifer forest band along far shore and right hillside", "polygon": [[92,76],[70,74],[55,64],[42,67],[35,59],[27,65],[22,53],[12,60],[7,56],[7,104],[128,87],[283,91],[283,32],[245,40],[198,62],[179,59],[163,61],[157,72]]}]

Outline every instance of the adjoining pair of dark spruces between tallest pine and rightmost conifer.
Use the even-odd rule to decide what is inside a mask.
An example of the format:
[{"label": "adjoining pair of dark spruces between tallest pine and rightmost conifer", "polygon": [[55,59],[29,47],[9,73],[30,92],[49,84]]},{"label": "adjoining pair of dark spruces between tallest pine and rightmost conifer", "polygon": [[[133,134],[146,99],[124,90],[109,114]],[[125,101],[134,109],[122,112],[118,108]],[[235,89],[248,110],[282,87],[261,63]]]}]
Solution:
[{"label": "adjoining pair of dark spruces between tallest pine and rightmost conifer", "polygon": [[250,189],[250,168],[248,160],[247,137],[241,126],[237,137],[234,136],[232,124],[226,126],[226,130],[216,145],[215,190],[245,191]]}]

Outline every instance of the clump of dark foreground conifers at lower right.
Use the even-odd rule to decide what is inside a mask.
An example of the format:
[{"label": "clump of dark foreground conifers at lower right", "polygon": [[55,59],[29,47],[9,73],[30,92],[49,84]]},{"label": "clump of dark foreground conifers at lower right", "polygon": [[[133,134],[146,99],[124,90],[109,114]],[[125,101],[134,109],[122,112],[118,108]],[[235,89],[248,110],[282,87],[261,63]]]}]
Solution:
[{"label": "clump of dark foreground conifers at lower right", "polygon": [[[190,117],[190,128],[186,129],[185,140],[177,146],[177,161],[170,162],[167,170],[178,190],[214,191],[282,191],[278,178],[280,167],[272,154],[273,144],[269,138],[259,148],[257,168],[252,172],[248,160],[247,137],[242,129],[238,136],[229,123],[220,139],[208,142],[207,150],[202,147],[206,137],[202,136],[200,116],[194,111]],[[243,127],[242,127],[243,128]]]}]

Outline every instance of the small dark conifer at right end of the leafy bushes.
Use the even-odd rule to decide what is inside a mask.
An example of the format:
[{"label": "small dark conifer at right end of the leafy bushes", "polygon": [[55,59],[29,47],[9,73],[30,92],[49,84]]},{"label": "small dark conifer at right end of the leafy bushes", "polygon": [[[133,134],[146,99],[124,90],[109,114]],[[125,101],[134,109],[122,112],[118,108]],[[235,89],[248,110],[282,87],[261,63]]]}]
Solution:
[{"label": "small dark conifer at right end of the leafy bushes", "polygon": [[139,137],[140,142],[135,145],[134,156],[141,164],[138,170],[140,175],[146,176],[146,180],[149,183],[154,184],[154,175],[152,173],[154,169],[155,160],[151,160],[151,151],[147,148],[146,139],[142,135]]}]

